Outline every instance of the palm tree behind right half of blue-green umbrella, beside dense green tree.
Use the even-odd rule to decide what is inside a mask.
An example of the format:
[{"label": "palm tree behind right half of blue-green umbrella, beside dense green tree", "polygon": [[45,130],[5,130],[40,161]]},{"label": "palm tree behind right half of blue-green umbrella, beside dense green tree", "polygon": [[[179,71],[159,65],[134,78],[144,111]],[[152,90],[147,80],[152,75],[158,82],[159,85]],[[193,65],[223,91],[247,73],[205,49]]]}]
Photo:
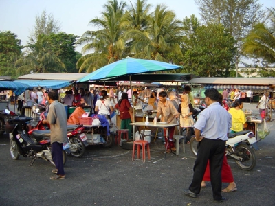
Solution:
[{"label": "palm tree behind right half of blue-green umbrella, beside dense green tree", "polygon": [[168,62],[169,52],[181,54],[181,21],[165,5],[157,5],[144,30],[132,29],[125,38],[134,40],[131,45],[134,58]]}]

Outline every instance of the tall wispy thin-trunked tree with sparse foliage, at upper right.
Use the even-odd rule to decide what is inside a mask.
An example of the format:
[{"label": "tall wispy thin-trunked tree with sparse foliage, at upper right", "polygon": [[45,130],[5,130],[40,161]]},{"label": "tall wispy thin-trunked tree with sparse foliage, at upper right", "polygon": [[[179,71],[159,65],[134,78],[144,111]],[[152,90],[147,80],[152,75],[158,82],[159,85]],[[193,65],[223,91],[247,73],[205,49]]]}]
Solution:
[{"label": "tall wispy thin-trunked tree with sparse foliage, at upper right", "polygon": [[204,23],[221,23],[234,37],[236,65],[242,56],[243,38],[263,19],[259,0],[195,0]]}]

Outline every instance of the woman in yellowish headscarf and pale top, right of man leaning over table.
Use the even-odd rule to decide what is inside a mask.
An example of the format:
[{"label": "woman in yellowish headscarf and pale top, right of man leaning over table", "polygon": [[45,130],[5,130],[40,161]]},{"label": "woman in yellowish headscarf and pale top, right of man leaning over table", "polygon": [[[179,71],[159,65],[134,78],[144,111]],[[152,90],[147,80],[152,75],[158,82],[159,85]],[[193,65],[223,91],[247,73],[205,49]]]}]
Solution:
[{"label": "woman in yellowish headscarf and pale top, right of man leaning over table", "polygon": [[181,128],[186,128],[186,144],[190,144],[192,126],[194,125],[194,120],[192,117],[192,114],[194,113],[194,108],[190,103],[187,94],[181,95],[181,104],[179,104],[179,109],[177,111],[180,113],[179,117]]}]

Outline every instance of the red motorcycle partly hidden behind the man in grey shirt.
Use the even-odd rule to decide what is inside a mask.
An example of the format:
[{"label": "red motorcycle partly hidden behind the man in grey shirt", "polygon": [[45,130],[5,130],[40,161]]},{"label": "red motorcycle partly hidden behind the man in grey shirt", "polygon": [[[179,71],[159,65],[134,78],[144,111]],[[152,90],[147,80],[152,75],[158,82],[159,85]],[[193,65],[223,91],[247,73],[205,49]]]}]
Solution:
[{"label": "red motorcycle partly hidden behind the man in grey shirt", "polygon": [[[31,126],[33,127],[28,133],[30,137],[32,137],[32,133],[34,130],[49,130],[50,132],[50,124],[43,124],[43,119],[46,119],[47,112],[43,112],[40,115],[39,122],[32,121]],[[70,153],[74,157],[82,157],[85,153],[87,143],[87,137],[84,133],[85,128],[82,125],[67,125],[68,133],[67,137],[69,143],[63,145],[63,148],[69,148]]]}]

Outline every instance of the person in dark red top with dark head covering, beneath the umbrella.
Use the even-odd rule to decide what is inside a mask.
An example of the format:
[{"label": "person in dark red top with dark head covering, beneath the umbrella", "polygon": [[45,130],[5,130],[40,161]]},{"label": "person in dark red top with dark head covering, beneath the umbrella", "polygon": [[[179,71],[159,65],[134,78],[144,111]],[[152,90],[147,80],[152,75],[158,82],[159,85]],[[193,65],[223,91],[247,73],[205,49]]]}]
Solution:
[{"label": "person in dark red top with dark head covering, beneath the umbrella", "polygon": [[121,99],[118,101],[117,104],[115,104],[115,108],[120,111],[120,129],[129,129],[128,137],[129,139],[133,139],[133,137],[131,137],[133,127],[130,125],[130,123],[132,122],[131,115],[133,116],[133,107],[128,100],[127,93],[122,93]]}]

